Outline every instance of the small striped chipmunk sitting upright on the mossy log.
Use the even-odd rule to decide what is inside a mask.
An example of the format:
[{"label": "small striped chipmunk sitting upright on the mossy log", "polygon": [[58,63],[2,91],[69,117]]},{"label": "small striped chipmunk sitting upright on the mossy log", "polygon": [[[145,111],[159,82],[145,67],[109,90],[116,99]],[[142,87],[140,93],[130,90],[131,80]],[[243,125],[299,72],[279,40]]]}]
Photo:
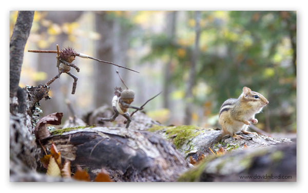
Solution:
[{"label": "small striped chipmunk sitting upright on the mossy log", "polygon": [[243,139],[236,135],[241,131],[243,134],[255,134],[247,132],[250,123],[258,123],[255,115],[260,113],[262,108],[268,104],[268,100],[260,93],[244,87],[243,93],[238,99],[230,98],[224,101],[219,110],[219,124],[222,127],[222,136],[230,135],[234,139]]}]

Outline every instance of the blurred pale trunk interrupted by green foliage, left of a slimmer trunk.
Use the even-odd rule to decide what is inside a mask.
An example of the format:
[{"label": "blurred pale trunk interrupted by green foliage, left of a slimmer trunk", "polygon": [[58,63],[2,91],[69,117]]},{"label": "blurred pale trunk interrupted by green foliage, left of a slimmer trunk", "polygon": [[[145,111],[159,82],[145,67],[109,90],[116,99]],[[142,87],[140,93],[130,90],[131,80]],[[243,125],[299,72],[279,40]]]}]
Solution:
[{"label": "blurred pale trunk interrupted by green foliage, left of a slimmer trunk", "polygon": [[[176,23],[177,23],[177,11],[167,12],[167,19],[166,19],[166,33],[167,38],[171,39],[171,42],[174,42],[176,39]],[[163,108],[170,109],[170,93],[171,93],[171,62],[173,56],[169,56],[168,63],[165,64],[164,68],[164,84],[163,84]]]}]

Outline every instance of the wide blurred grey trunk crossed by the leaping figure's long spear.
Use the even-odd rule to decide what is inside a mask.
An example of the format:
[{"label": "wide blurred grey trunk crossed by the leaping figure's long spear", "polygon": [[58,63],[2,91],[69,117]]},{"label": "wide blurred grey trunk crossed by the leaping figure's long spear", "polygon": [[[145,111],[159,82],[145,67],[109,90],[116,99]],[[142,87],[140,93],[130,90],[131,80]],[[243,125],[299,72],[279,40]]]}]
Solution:
[{"label": "wide blurred grey trunk crossed by the leaping figure's long spear", "polygon": [[[94,57],[113,62],[112,37],[113,20],[106,18],[105,12],[95,13],[95,27],[101,35],[101,39],[95,44],[96,55]],[[112,65],[98,63],[94,65],[93,87],[94,106],[111,103],[113,96],[113,76],[115,71]]]}]

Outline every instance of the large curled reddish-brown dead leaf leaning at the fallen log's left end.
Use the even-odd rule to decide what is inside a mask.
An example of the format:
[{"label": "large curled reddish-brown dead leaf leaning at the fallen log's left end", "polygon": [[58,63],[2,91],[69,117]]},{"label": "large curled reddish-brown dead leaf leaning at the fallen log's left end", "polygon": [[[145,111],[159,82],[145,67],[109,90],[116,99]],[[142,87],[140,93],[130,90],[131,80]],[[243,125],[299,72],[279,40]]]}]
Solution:
[{"label": "large curled reddish-brown dead leaf leaning at the fallen log's left end", "polygon": [[51,134],[48,131],[47,124],[60,125],[63,113],[52,113],[41,118],[34,127],[34,135],[37,140],[45,139]]}]

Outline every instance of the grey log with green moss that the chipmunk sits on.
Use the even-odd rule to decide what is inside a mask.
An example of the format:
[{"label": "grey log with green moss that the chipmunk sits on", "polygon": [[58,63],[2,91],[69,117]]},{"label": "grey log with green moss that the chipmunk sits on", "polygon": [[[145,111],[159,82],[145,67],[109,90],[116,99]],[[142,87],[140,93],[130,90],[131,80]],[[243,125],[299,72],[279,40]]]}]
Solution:
[{"label": "grey log with green moss that the chipmunk sits on", "polygon": [[[189,162],[190,156],[197,159],[200,155],[211,155],[216,153],[221,147],[227,152],[242,150],[244,147],[266,147],[279,143],[291,143],[288,138],[272,138],[261,134],[243,134],[241,140],[235,140],[232,137],[222,137],[221,131],[216,128],[203,128],[192,125],[181,126],[153,126],[149,128],[156,134],[174,143],[177,149],[184,155]],[[212,152],[213,151],[213,152]]]}]

